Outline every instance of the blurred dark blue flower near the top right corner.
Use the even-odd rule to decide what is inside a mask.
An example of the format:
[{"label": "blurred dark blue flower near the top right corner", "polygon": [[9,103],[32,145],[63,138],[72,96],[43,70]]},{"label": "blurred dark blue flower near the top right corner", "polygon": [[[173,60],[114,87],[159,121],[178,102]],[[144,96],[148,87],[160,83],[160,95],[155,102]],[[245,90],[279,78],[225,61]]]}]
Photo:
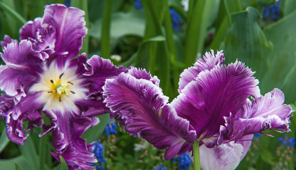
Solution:
[{"label": "blurred dark blue flower near the top right corner", "polygon": [[272,6],[263,9],[263,18],[265,21],[277,21],[280,19],[280,1]]}]

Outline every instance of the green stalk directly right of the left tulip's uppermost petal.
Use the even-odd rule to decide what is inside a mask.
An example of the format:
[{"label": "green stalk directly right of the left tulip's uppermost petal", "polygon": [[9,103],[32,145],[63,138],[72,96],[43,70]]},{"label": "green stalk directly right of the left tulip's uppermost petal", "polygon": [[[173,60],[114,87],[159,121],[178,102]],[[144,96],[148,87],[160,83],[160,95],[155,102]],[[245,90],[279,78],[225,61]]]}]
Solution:
[{"label": "green stalk directly right of the left tulip's uppermost petal", "polygon": [[[85,0],[72,0],[70,6],[77,7],[78,9],[81,9],[85,11],[85,27],[89,28],[90,22],[88,18],[88,1]],[[88,54],[88,43],[90,41],[90,36],[87,33],[85,37],[83,38],[85,41],[83,41],[83,48],[80,51],[80,53],[86,53]]]}]

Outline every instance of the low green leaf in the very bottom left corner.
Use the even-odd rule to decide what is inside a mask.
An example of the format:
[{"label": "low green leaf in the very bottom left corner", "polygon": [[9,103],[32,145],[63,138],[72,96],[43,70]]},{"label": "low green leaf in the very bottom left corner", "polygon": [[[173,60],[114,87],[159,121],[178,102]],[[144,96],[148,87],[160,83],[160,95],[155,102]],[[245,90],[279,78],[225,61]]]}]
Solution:
[{"label": "low green leaf in the very bottom left corner", "polygon": [[27,164],[26,159],[22,155],[11,159],[0,159],[1,169],[16,169],[16,163],[21,167],[21,170],[31,170],[31,167]]}]

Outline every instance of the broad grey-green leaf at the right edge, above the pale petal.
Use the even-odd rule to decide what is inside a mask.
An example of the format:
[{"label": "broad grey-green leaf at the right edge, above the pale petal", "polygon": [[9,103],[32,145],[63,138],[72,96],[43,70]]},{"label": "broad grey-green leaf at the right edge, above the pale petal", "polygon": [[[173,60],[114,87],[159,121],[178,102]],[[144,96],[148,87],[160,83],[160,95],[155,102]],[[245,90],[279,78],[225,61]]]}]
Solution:
[{"label": "broad grey-green leaf at the right edge, above the pale petal", "polygon": [[285,93],[285,102],[296,100],[295,86],[295,44],[296,44],[296,11],[265,28],[266,37],[273,42],[274,50],[271,56],[273,68],[266,76],[267,80],[263,92],[275,87]]}]

